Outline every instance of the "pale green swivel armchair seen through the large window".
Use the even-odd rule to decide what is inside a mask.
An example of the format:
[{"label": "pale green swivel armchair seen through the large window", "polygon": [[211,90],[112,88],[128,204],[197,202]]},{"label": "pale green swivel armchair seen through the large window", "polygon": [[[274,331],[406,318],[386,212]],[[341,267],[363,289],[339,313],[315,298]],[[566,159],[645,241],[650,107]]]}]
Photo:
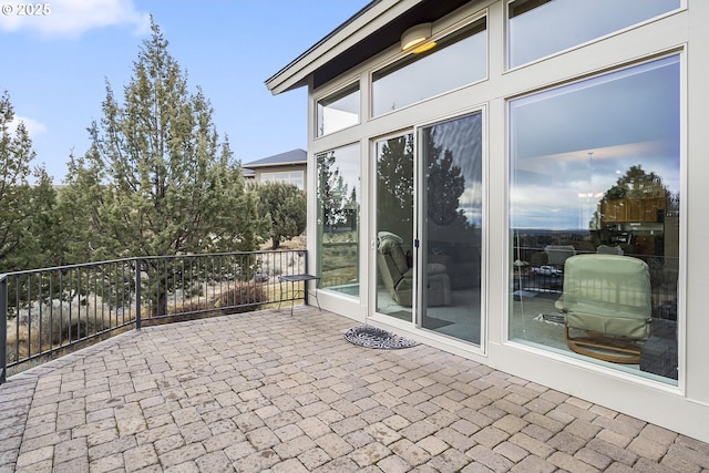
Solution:
[{"label": "pale green swivel armchair seen through the large window", "polygon": [[603,254],[569,257],[564,264],[564,291],[556,301],[565,313],[566,343],[588,357],[638,363],[641,343],[650,336],[651,298],[649,268],[641,259]]}]

